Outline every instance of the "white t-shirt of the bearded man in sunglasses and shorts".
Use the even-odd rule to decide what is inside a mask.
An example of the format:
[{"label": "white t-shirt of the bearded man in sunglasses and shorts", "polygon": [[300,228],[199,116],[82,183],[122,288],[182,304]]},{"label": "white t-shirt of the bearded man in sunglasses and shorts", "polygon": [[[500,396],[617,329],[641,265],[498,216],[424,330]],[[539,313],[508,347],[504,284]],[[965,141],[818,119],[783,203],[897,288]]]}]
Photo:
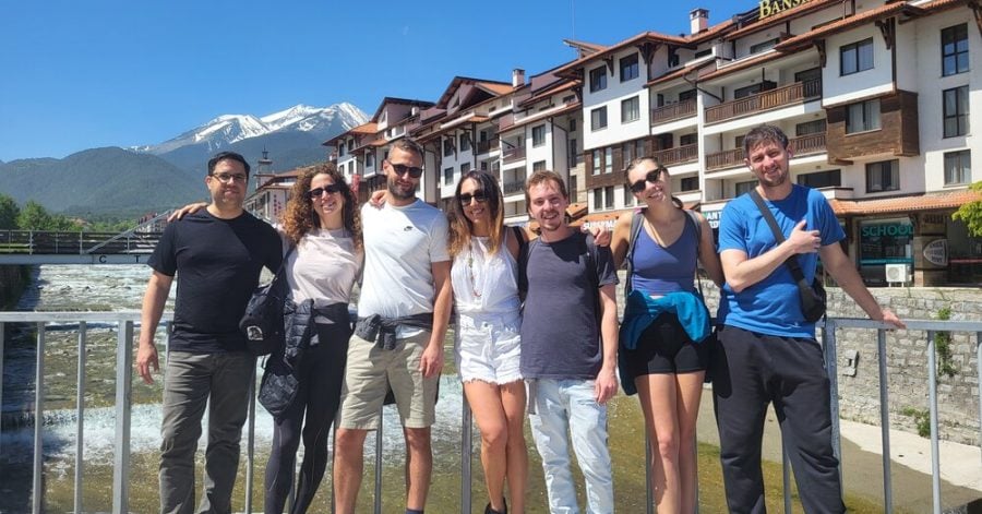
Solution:
[{"label": "white t-shirt of the bearded man in sunglasses and shorts", "polygon": [[[433,312],[434,262],[450,261],[443,212],[417,200],[405,207],[361,207],[364,278],[358,315],[402,318]],[[399,335],[403,336],[402,334]]]}]

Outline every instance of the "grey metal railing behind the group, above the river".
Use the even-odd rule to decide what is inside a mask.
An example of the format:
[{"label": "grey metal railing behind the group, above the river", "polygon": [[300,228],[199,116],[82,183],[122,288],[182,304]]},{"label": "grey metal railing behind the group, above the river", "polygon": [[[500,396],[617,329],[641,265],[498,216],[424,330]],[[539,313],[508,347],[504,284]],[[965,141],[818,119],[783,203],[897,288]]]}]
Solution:
[{"label": "grey metal railing behind the group, above the river", "polygon": [[[164,318],[166,325],[170,315]],[[75,403],[76,410],[76,441],[75,441],[75,475],[74,475],[74,510],[75,513],[84,512],[82,505],[82,466],[84,459],[84,402],[85,396],[85,356],[87,324],[93,322],[110,322],[118,327],[117,347],[116,347],[116,428],[113,441],[113,475],[112,475],[112,512],[122,514],[129,512],[129,475],[130,475],[130,427],[131,427],[131,405],[132,392],[131,383],[133,380],[133,347],[134,347],[134,324],[140,320],[139,312],[108,312],[108,313],[79,313],[79,312],[0,312],[0,356],[3,355],[4,347],[4,324],[5,323],[32,323],[37,327],[37,356],[36,356],[36,387],[34,393],[34,455],[33,455],[33,493],[32,493],[32,512],[41,513],[45,511],[44,498],[37,491],[43,491],[43,457],[44,444],[41,439],[41,429],[44,423],[40,422],[45,409],[45,339],[47,333],[47,323],[77,323],[77,398]],[[889,397],[888,397],[888,376],[886,362],[886,333],[890,327],[884,323],[860,319],[842,319],[830,318],[824,323],[818,323],[822,330],[821,340],[825,352],[826,369],[830,381],[831,397],[831,419],[833,419],[833,445],[836,456],[839,457],[839,466],[841,467],[841,441],[839,434],[839,402],[838,402],[838,370],[837,370],[837,330],[838,328],[861,328],[874,330],[877,335],[878,343],[878,370],[879,370],[879,409],[881,409],[881,430],[883,441],[883,478],[884,478],[884,512],[893,512],[893,486],[890,481],[890,440],[889,440]],[[932,459],[932,494],[933,494],[933,512],[942,512],[941,503],[941,461],[938,449],[938,407],[937,407],[937,366],[934,335],[937,332],[967,332],[975,334],[977,350],[977,373],[982,374],[982,321],[907,321],[908,332],[921,332],[926,337],[927,349],[927,391],[929,391],[929,411],[931,421],[931,459]],[[0,358],[0,376],[3,373],[3,359]],[[978,375],[977,375],[978,376]],[[250,390],[254,386],[254,380],[250,382]],[[252,398],[249,406],[249,418],[247,422],[247,476],[246,476],[246,512],[252,512],[252,492],[253,492],[253,450],[254,450],[254,425],[255,425],[255,396],[250,391]],[[0,382],[0,404],[2,404],[3,390]],[[471,504],[471,459],[472,459],[472,425],[469,406],[466,398],[462,394],[463,402],[463,419],[462,419],[462,469],[460,469],[460,510],[469,512]],[[374,477],[374,512],[382,512],[382,423],[380,413],[380,429],[375,433],[375,477]],[[980,432],[982,432],[982,405],[980,405],[978,419],[980,423]],[[982,441],[982,433],[980,433]],[[650,444],[647,445],[648,452],[651,451]],[[0,449],[2,450],[2,449]],[[791,511],[791,478],[790,465],[788,464],[787,454],[785,454],[783,463],[783,498],[785,512]],[[649,462],[649,459],[648,459]],[[647,470],[650,477],[650,469]],[[650,479],[647,480],[651,483]],[[651,491],[648,487],[648,512],[654,513],[654,504],[650,501]]]}]

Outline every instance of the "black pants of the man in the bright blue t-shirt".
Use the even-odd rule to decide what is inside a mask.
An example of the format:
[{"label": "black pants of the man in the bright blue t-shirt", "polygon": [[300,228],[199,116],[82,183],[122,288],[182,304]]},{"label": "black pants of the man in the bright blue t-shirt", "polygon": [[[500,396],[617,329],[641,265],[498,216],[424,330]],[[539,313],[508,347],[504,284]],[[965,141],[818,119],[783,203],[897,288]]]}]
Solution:
[{"label": "black pants of the man in the bright blue t-shirt", "polygon": [[730,512],[766,512],[761,442],[771,402],[804,512],[846,512],[831,445],[828,373],[818,343],[726,326],[719,333],[712,372]]}]

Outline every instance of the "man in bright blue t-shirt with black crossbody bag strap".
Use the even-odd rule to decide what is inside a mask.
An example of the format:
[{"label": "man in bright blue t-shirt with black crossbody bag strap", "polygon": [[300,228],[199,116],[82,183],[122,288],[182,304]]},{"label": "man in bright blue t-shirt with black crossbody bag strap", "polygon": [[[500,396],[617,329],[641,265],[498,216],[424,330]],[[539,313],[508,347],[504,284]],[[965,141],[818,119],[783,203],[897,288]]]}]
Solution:
[{"label": "man in bright blue t-shirt with black crossbody bag strap", "polygon": [[730,512],[763,513],[761,442],[767,404],[774,403],[806,513],[845,512],[838,459],[831,447],[828,374],[805,321],[789,267],[797,259],[807,284],[818,258],[839,286],[876,321],[903,323],[882,309],[839,241],[846,235],[816,190],[791,182],[788,136],[762,125],[743,140],[757,193],[785,236],[778,243],[750,194],[727,204],[719,252],[727,283],[718,318],[724,325],[714,362],[712,393],[720,461]]}]

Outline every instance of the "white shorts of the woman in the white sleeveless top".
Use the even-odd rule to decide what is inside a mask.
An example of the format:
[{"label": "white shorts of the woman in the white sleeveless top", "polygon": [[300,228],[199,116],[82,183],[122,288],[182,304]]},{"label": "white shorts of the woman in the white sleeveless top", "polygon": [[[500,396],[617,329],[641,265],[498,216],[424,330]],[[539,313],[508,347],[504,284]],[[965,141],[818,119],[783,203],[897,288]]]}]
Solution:
[{"label": "white shorts of the woman in the white sleeveless top", "polygon": [[480,380],[507,384],[522,380],[518,312],[459,314],[455,337],[457,372],[462,382]]}]

